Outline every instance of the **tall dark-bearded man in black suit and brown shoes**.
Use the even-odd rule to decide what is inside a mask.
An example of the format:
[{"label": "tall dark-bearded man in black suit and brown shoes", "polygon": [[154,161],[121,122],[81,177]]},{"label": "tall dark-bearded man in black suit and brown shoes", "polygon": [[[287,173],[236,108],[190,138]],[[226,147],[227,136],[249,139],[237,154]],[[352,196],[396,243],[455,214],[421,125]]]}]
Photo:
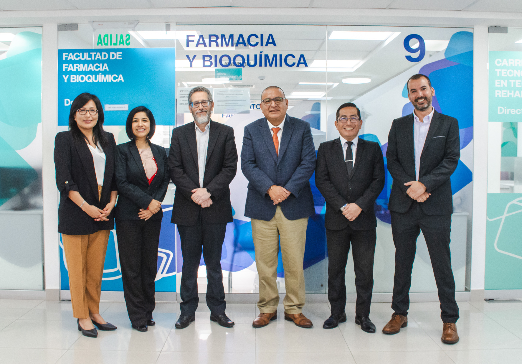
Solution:
[{"label": "tall dark-bearded man in black suit and brown shoes", "polygon": [[408,325],[411,269],[422,231],[441,302],[441,340],[455,344],[459,340],[455,325],[459,315],[449,250],[453,213],[449,178],[460,157],[458,122],[432,107],[435,90],[427,76],[413,75],[406,85],[414,110],[393,121],[386,151],[388,171],[393,178],[388,209],[395,244],[395,312],[383,333],[396,334]]}]

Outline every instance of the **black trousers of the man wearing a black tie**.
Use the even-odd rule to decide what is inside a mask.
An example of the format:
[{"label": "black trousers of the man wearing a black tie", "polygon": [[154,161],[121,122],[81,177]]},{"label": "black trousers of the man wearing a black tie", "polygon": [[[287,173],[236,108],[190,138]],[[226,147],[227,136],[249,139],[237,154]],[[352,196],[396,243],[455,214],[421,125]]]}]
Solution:
[{"label": "black trousers of the man wearing a black tie", "polygon": [[351,243],[355,288],[357,290],[355,314],[358,316],[370,315],[373,289],[373,258],[376,240],[375,229],[352,230],[349,226],[342,230],[326,229],[328,301],[330,301],[331,313],[339,314],[345,312],[345,274]]}]

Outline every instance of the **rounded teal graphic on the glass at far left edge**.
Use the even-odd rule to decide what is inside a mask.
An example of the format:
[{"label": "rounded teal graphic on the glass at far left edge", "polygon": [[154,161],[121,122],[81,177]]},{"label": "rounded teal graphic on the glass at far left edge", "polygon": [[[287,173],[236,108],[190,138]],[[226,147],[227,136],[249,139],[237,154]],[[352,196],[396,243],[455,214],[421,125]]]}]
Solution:
[{"label": "rounded teal graphic on the glass at far left edge", "polygon": [[16,150],[33,142],[42,118],[42,35],[16,34],[0,60],[0,206],[38,179]]}]

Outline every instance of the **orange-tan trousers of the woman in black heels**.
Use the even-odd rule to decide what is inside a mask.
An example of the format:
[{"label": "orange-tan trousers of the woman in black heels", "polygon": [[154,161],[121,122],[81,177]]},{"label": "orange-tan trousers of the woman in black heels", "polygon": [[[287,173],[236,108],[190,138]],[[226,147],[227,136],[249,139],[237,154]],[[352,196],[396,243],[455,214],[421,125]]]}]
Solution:
[{"label": "orange-tan trousers of the woman in black heels", "polygon": [[99,313],[101,278],[110,230],[89,235],[62,234],[65,260],[69,271],[73,316],[87,319]]}]

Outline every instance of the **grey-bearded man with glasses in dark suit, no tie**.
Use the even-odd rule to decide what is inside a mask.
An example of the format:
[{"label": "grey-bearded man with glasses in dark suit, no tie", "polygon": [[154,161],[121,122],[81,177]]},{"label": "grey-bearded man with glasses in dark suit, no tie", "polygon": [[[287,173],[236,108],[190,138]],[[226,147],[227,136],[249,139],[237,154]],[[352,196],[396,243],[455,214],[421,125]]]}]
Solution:
[{"label": "grey-bearded man with glasses in dark suit, no tie", "polygon": [[210,321],[232,327],[234,323],[225,314],[220,261],[227,223],[233,221],[229,184],[238,166],[234,130],[210,120],[214,103],[207,88],[193,88],[188,93],[188,104],[194,122],[172,131],[169,152],[170,178],[176,185],[171,222],[177,224],[183,256],[183,302],[175,326],[184,328],[195,320],[199,302],[197,272],[203,249]]}]

